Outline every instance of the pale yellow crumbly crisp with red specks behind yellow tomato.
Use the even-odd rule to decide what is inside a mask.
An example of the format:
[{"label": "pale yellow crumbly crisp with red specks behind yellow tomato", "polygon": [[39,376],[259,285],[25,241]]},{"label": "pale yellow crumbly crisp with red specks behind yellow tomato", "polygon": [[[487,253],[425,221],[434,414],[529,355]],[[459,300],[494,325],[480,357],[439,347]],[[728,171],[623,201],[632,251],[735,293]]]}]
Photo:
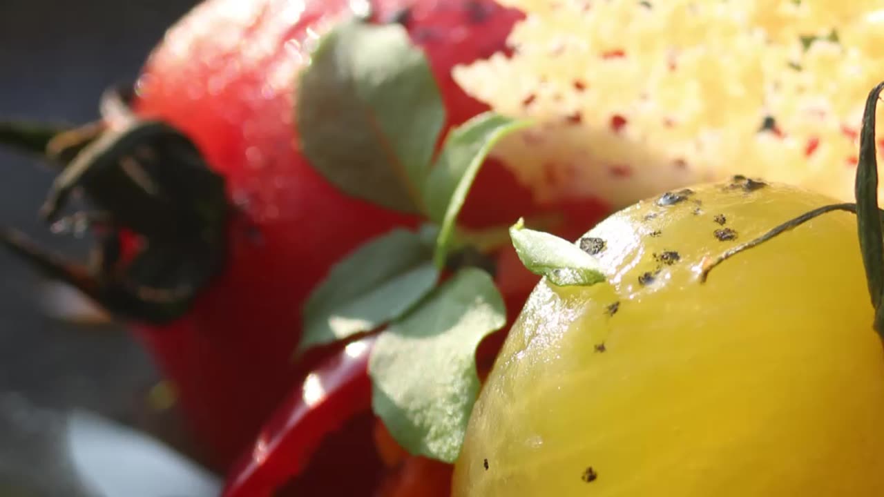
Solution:
[{"label": "pale yellow crumbly crisp with red specks behind yellow tomato", "polygon": [[499,1],[527,14],[514,56],[454,77],[535,121],[494,155],[537,198],[624,205],[735,173],[853,198],[884,1]]}]

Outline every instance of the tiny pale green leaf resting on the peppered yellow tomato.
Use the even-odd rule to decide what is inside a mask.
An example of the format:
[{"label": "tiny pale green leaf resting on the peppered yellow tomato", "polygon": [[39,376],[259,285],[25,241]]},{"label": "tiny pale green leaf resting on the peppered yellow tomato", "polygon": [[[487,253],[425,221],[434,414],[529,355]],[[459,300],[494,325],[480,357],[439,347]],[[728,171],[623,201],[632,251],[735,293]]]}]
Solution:
[{"label": "tiny pale green leaf resting on the peppered yellow tomato", "polygon": [[559,287],[590,287],[605,281],[598,261],[574,243],[525,227],[522,219],[509,229],[515,253],[534,274]]}]

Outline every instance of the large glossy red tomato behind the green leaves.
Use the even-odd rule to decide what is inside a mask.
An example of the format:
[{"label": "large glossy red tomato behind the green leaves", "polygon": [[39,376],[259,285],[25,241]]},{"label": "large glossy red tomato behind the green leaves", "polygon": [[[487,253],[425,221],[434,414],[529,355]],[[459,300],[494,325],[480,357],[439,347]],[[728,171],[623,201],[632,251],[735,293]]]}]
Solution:
[{"label": "large glossy red tomato behind the green leaves", "polygon": [[[225,270],[194,309],[172,325],[136,326],[219,469],[248,446],[312,364],[293,363],[292,353],[301,302],[316,282],[363,241],[418,222],[341,195],[298,149],[295,76],[317,37],[352,15],[351,4],[209,0],[171,27],[136,84],[135,111],[187,134],[225,176],[236,207]],[[451,66],[503,50],[521,14],[491,1],[378,0],[373,8],[375,21],[399,19],[426,50],[449,124],[487,109],[454,85]],[[463,220],[506,225],[556,209],[535,205],[512,174],[489,163]],[[572,212],[598,217],[599,210]]]}]

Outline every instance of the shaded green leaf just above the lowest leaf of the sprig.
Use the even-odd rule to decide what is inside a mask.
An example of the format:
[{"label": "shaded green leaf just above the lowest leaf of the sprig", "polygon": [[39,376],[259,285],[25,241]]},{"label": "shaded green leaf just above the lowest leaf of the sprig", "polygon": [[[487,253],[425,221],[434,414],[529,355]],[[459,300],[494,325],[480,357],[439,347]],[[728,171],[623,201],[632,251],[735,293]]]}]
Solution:
[{"label": "shaded green leaf just above the lowest leaf of the sprig", "polygon": [[429,294],[437,279],[431,248],[417,233],[398,229],[365,243],[310,294],[299,352],[385,325]]}]

